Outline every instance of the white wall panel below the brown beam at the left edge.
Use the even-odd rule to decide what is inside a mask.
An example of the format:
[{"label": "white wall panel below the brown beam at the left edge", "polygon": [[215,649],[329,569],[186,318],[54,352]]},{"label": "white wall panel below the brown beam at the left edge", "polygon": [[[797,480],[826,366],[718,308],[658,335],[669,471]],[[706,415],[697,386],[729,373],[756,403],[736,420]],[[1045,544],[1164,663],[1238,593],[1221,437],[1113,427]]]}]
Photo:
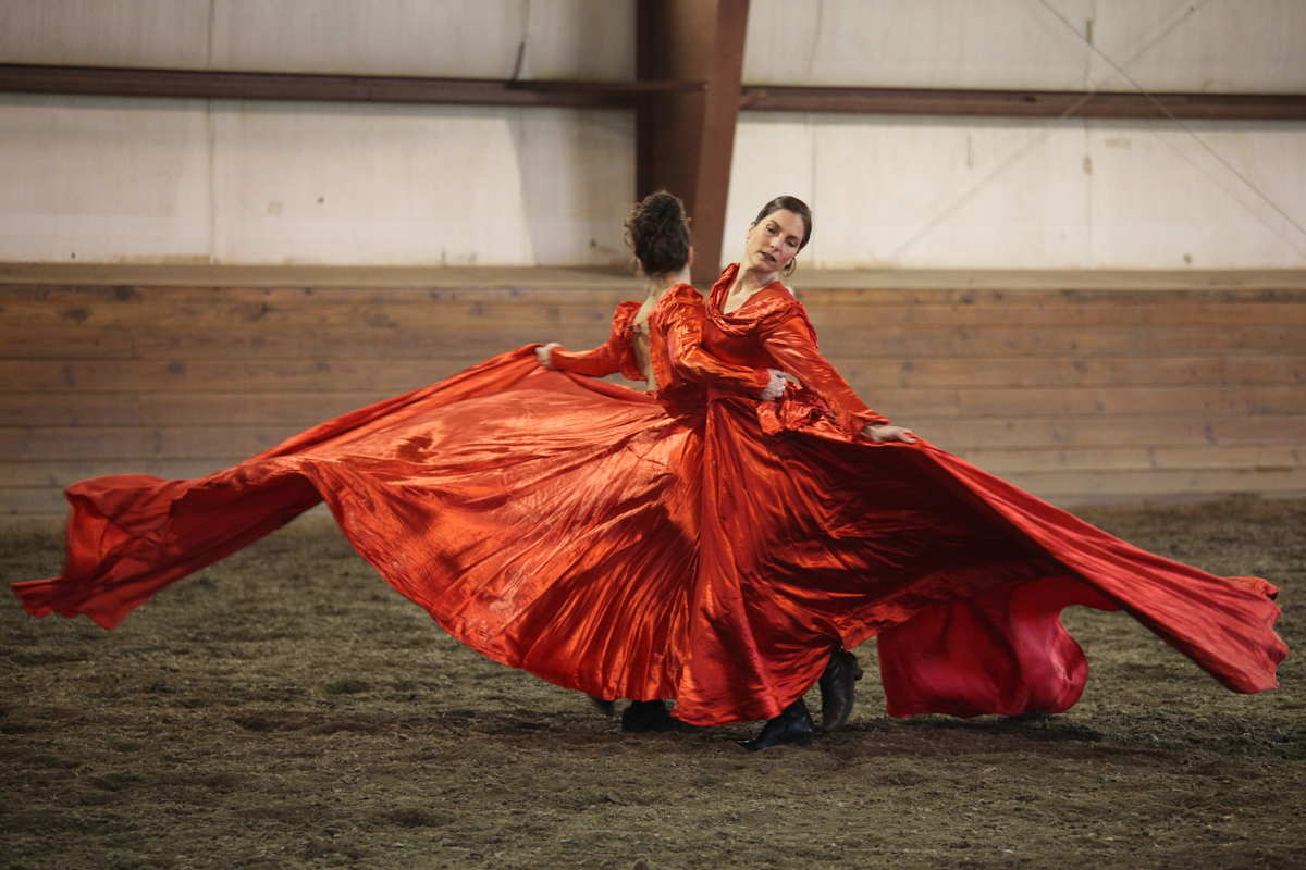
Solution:
[{"label": "white wall panel below the brown beam at the left edge", "polygon": [[0,260],[205,261],[196,100],[0,97]]}]

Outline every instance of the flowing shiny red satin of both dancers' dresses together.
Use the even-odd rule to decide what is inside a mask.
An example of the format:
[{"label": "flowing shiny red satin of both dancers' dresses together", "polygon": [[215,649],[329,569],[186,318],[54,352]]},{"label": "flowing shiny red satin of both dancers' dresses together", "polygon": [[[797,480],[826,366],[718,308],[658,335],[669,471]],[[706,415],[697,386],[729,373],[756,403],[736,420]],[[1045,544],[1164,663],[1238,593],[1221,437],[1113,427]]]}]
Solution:
[{"label": "flowing shiny red satin of both dancers' dresses together", "polygon": [[[34,614],[112,627],[158,588],[325,500],[380,574],[469,647],[602,698],[729,724],[778,713],[836,646],[879,635],[893,715],[1055,712],[1087,665],[1068,604],[1122,608],[1225,685],[1275,683],[1273,587],[1144,553],[862,404],[773,286],[729,316],[688,287],[649,318],[657,397],[609,340],[504,353],[193,481],[69,488],[63,577]],[[755,397],[765,368],[803,381]]]}]

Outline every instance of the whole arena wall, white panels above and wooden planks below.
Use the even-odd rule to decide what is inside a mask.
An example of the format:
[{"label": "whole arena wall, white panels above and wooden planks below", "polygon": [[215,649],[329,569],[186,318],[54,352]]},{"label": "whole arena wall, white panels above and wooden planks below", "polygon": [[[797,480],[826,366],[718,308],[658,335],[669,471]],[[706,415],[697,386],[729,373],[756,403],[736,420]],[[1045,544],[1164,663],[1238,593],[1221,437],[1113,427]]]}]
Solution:
[{"label": "whole arena wall, white panels above and wooden planks below", "polygon": [[[803,5],[752,0],[746,83],[1128,90],[1091,35],[1148,89],[1306,90],[1297,0]],[[0,4],[8,63],[627,80],[632,46],[633,0]],[[629,111],[7,94],[0,129],[0,513],[592,346],[640,292]],[[1303,158],[1292,121],[743,112],[724,256],[807,198],[825,352],[1040,496],[1302,493]]]}]

